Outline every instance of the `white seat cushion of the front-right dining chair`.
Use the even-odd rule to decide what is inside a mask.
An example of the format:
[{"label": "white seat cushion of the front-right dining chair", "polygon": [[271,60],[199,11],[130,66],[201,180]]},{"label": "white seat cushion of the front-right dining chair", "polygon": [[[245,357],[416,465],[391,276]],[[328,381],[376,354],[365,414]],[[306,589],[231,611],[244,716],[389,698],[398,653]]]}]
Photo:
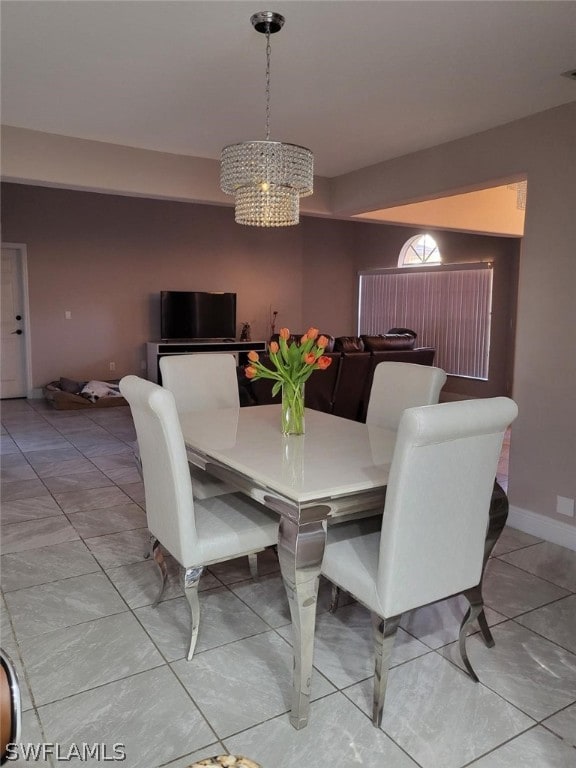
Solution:
[{"label": "white seat cushion of the front-right dining chair", "polygon": [[376,594],[382,517],[368,517],[328,527],[322,573],[346,592],[362,595],[371,611],[381,611]]}]

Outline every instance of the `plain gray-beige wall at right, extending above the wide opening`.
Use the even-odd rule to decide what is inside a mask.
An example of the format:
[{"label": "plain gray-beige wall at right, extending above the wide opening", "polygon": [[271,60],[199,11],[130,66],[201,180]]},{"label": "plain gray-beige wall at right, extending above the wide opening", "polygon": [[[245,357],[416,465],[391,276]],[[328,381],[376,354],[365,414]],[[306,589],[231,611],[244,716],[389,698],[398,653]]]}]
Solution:
[{"label": "plain gray-beige wall at right, extending above the wide opening", "polygon": [[[334,215],[347,215],[527,177],[508,492],[515,507],[569,525],[556,505],[576,498],[575,129],[571,102],[341,176],[332,190]],[[562,529],[549,535],[563,540]]]}]

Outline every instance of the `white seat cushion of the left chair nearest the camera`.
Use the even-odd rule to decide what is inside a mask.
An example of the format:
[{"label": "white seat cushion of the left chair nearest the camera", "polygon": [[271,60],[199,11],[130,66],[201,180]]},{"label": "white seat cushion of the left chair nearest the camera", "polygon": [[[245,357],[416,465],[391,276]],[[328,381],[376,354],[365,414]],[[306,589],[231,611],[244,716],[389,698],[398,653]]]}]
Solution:
[{"label": "white seat cushion of the left chair nearest the camera", "polygon": [[240,493],[195,500],[194,513],[202,558],[182,563],[185,567],[241,557],[278,543],[279,516]]}]

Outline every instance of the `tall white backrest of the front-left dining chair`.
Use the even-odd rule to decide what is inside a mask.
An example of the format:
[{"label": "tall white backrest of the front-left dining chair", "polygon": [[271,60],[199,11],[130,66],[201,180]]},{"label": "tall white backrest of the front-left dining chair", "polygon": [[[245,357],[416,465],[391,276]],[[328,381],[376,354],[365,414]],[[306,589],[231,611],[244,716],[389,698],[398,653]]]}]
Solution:
[{"label": "tall white backrest of the front-left dining chair", "polygon": [[138,376],[125,376],[120,392],[128,401],[138,439],[150,532],[188,567],[198,551],[192,482],[174,395]]}]

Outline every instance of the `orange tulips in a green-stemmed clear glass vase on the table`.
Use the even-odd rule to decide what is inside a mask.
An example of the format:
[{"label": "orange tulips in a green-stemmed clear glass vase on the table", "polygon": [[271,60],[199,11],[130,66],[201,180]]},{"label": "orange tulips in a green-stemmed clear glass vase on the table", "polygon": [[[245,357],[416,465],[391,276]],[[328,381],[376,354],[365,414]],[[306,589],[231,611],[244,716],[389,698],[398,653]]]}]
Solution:
[{"label": "orange tulips in a green-stemmed clear glass vase on the table", "polygon": [[268,353],[274,368],[260,362],[258,352],[248,352],[248,379],[275,379],[272,396],[282,390],[282,421],[284,435],[304,434],[304,385],[313,371],[325,370],[332,359],[324,355],[326,336],[318,336],[317,328],[309,328],[299,342],[288,343],[290,331],[280,329],[278,342],[271,341]]}]

